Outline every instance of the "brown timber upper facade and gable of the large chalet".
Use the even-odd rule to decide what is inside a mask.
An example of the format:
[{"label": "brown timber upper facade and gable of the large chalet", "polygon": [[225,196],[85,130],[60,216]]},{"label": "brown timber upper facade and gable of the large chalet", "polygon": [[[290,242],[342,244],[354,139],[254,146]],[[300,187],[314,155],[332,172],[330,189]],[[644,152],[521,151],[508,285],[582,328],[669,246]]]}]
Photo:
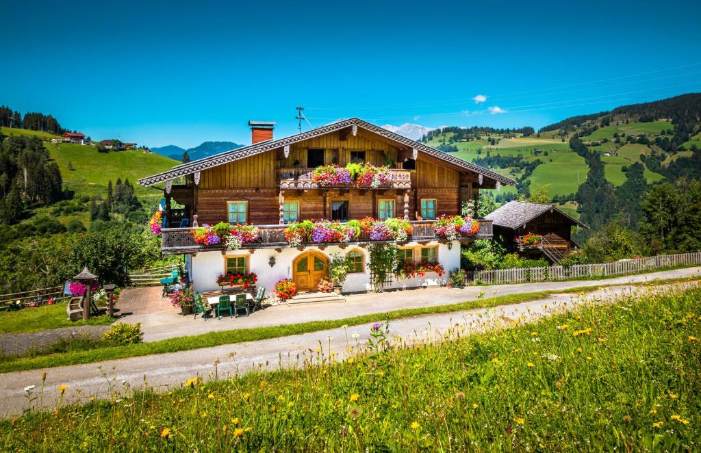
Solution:
[{"label": "brown timber upper facade and gable of the large chalet", "polygon": [[[319,187],[311,177],[319,165],[350,162],[387,165],[392,181],[377,188]],[[166,226],[189,227],[227,221],[435,219],[460,214],[461,203],[475,202],[480,188],[513,181],[351,119],[178,165],[139,183],[165,183]],[[175,203],[184,206],[179,213]]]}]

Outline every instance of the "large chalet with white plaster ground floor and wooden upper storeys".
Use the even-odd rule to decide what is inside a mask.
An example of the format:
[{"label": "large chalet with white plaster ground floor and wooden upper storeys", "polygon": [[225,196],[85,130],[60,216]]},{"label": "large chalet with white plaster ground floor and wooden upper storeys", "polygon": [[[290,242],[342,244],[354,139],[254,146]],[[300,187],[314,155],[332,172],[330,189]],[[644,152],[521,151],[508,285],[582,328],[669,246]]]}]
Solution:
[{"label": "large chalet with white plaster ground floor and wooden upper storeys", "polygon": [[[343,291],[370,290],[367,247],[372,241],[367,234],[347,243],[290,245],[285,228],[305,219],[407,219],[413,231],[406,241],[398,243],[402,259],[437,262],[450,271],[460,266],[460,240],[439,241],[435,220],[461,214],[461,203],[475,203],[481,188],[515,184],[508,177],[357,118],[282,139],[273,138],[273,122],[249,124],[250,146],[139,180],[144,187],[163,187],[163,252],[186,255],[197,291],[218,289],[217,277],[227,271],[257,273],[257,285],[268,292],[283,278],[294,280],[299,291],[315,291],[327,273],[329,257],[335,254],[349,256],[354,263]],[[315,182],[314,170],[332,163],[341,167],[347,163],[387,165],[391,177],[376,187],[323,187]],[[193,227],[218,222],[255,225],[259,238],[239,250],[193,240]],[[469,240],[491,237],[491,221],[479,220],[479,231]],[[386,288],[446,281],[447,274],[439,277],[429,272],[423,277],[393,280]]]}]

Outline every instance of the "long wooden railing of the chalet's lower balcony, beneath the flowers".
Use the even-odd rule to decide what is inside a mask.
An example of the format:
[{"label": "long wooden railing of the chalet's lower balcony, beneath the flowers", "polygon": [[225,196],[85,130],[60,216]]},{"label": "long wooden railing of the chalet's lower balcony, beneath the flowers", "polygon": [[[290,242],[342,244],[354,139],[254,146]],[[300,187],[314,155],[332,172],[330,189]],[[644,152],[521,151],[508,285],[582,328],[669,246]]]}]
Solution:
[{"label": "long wooden railing of the chalet's lower balcony, beneath the flowers", "polygon": [[[461,239],[472,241],[475,239],[491,239],[492,224],[491,220],[478,220],[479,232],[475,236],[463,236]],[[440,241],[440,238],[435,236],[435,221],[433,220],[417,220],[410,222],[413,227],[413,232],[409,236],[408,241]],[[256,243],[246,244],[246,249],[257,248],[285,248],[289,245],[285,240],[285,228],[287,225],[259,225],[259,240]],[[164,253],[194,253],[204,252],[208,250],[224,250],[225,245],[198,245],[192,238],[192,228],[168,228],[161,230],[162,244],[161,250]],[[348,244],[362,243],[377,243],[379,241],[370,241],[367,234],[361,234],[360,237],[351,241]],[[381,242],[381,241],[380,241]],[[389,242],[389,241],[386,241]],[[304,246],[325,246],[325,245],[343,245],[346,243],[307,243]]]}]

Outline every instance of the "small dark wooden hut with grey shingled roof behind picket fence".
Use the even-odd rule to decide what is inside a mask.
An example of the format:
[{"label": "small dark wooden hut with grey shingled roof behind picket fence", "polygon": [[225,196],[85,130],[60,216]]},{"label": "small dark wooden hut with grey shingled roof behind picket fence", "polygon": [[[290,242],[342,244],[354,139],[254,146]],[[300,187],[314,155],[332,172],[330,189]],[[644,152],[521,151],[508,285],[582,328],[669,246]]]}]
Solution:
[{"label": "small dark wooden hut with grey shingled roof behind picket fence", "polygon": [[[494,224],[494,236],[501,237],[512,252],[536,258],[544,255],[554,264],[579,248],[572,241],[572,227],[589,229],[550,203],[530,201],[510,201],[486,215],[486,219]],[[521,238],[527,234],[543,237],[531,245],[524,245]]]}]

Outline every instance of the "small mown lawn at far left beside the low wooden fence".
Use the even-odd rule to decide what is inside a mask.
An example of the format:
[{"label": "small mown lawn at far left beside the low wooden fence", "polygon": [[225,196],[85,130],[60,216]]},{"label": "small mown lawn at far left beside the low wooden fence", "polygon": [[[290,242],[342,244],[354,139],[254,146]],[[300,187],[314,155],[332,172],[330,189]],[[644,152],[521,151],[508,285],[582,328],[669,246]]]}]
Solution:
[{"label": "small mown lawn at far left beside the low wooden fence", "polygon": [[0,333],[17,334],[21,332],[39,332],[58,327],[75,327],[76,325],[109,325],[114,319],[107,316],[90,318],[87,322],[69,321],[66,314],[66,302],[42,305],[19,311],[0,311]]}]

